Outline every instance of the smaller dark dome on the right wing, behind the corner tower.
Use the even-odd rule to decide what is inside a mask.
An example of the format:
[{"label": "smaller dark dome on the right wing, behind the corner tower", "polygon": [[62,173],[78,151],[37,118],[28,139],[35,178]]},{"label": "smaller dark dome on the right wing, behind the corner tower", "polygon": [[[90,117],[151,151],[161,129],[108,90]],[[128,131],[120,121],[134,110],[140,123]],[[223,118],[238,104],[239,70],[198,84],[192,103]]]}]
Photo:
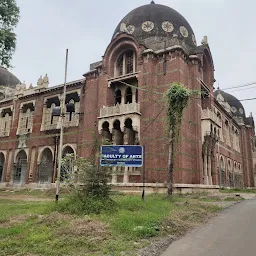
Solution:
[{"label": "smaller dark dome on the right wing, behind the corner tower", "polygon": [[245,111],[242,103],[233,95],[217,90],[214,98],[225,108],[233,117],[245,119]]}]

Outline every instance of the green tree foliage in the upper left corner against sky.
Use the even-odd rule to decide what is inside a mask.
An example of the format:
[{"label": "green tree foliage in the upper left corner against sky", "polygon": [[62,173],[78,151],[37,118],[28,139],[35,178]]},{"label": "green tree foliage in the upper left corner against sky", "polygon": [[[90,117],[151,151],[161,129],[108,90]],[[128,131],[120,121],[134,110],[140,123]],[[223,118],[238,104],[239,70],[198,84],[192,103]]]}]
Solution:
[{"label": "green tree foliage in the upper left corner against sky", "polygon": [[14,28],[19,21],[16,0],[0,0],[0,65],[10,67],[16,48]]}]

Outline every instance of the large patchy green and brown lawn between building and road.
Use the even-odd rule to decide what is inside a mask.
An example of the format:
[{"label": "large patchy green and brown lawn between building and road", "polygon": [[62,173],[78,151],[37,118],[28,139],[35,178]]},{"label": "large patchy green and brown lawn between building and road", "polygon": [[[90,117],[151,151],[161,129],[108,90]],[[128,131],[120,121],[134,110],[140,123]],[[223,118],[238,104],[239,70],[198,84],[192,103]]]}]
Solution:
[{"label": "large patchy green and brown lawn between building and road", "polygon": [[86,205],[79,208],[71,199],[58,205],[1,199],[0,255],[136,255],[153,237],[181,235],[221,209],[195,195],[151,195],[146,202],[140,196],[112,195],[100,205],[87,200],[96,211],[84,211]]}]

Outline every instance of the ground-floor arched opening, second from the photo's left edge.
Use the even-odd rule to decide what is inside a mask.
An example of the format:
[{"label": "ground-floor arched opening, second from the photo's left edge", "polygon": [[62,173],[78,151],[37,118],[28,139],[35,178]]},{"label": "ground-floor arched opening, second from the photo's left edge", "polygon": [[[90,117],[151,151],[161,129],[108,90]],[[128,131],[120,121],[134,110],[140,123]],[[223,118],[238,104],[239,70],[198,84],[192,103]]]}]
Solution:
[{"label": "ground-floor arched opening, second from the photo's left edge", "polygon": [[27,172],[27,154],[24,150],[20,151],[16,157],[14,165],[13,182],[25,183]]}]

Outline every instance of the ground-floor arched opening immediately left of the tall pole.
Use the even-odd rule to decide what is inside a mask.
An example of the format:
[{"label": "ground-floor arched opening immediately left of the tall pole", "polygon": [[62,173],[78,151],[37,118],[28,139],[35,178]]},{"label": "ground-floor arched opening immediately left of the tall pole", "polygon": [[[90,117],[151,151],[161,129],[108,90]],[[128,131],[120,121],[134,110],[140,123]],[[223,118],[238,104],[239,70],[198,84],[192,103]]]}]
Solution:
[{"label": "ground-floor arched opening immediately left of the tall pole", "polygon": [[53,176],[53,157],[49,148],[44,149],[38,166],[38,182],[51,183]]}]

